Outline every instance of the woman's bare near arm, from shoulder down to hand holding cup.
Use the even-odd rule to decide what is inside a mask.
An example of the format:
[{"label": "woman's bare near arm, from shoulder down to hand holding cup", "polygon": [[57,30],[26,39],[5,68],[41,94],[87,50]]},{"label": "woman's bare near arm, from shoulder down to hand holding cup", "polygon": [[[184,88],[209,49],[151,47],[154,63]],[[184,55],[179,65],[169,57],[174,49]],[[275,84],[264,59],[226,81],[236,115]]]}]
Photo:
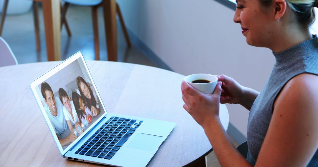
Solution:
[{"label": "woman's bare near arm, from shoulder down to hand holding cup", "polygon": [[[275,104],[255,166],[306,166],[318,149],[318,77],[289,81]],[[229,140],[219,120],[218,84],[212,95],[182,84],[185,110],[204,128],[221,166],[251,166]]]}]

